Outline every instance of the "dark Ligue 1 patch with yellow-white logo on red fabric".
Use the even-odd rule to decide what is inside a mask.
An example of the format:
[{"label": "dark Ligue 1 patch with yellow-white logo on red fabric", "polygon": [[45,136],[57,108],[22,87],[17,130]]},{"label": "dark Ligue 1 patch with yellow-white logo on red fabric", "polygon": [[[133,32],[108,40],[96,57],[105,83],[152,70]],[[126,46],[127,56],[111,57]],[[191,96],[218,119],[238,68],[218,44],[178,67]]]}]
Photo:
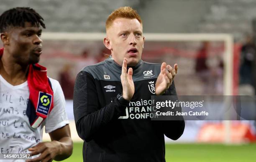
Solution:
[{"label": "dark Ligue 1 patch with yellow-white logo on red fabric", "polygon": [[52,95],[44,92],[39,92],[36,112],[47,116],[51,107],[51,99]]}]

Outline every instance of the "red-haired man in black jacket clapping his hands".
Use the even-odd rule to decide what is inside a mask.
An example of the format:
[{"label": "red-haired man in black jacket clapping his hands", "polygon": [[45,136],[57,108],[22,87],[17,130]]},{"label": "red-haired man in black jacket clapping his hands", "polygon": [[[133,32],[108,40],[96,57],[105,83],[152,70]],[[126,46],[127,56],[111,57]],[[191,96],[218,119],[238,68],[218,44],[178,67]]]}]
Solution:
[{"label": "red-haired man in black jacket clapping his hands", "polygon": [[184,120],[151,120],[151,95],[177,95],[178,65],[141,60],[142,21],[131,7],[109,15],[106,33],[111,56],[79,72],[74,87],[84,162],[165,162],[164,135],[177,140]]}]

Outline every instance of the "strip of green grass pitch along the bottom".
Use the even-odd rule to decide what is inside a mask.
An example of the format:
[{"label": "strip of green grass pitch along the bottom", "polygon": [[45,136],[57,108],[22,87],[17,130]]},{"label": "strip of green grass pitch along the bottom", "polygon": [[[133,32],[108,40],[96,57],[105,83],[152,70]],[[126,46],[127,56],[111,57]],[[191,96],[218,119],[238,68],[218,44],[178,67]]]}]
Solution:
[{"label": "strip of green grass pitch along the bottom", "polygon": [[[73,154],[64,162],[82,162],[82,147],[74,143]],[[256,162],[256,144],[166,144],[166,162]]]}]

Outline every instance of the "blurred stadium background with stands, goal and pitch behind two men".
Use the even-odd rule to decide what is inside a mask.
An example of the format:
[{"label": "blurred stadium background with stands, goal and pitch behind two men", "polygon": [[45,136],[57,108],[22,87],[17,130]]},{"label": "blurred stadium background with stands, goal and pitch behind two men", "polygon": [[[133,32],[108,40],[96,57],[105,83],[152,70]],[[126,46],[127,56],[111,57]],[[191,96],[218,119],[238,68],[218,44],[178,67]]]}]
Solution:
[{"label": "blurred stadium background with stands, goal and pitch behind two men", "polygon": [[[33,7],[45,19],[40,63],[62,85],[75,142],[66,162],[82,161],[72,105],[75,77],[108,57],[105,20],[125,5],[143,20],[143,60],[178,63],[178,95],[255,95],[256,0],[1,0],[0,13]],[[255,121],[186,121],[179,140],[166,139],[166,162],[255,162],[255,127]]]}]

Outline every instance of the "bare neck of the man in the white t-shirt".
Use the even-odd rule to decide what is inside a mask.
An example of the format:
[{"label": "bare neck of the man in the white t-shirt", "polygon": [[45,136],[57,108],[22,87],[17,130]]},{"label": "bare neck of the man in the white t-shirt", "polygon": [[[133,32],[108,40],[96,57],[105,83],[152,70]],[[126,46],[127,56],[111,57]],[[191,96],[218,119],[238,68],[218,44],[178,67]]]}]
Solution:
[{"label": "bare neck of the man in the white t-shirt", "polygon": [[19,65],[8,54],[0,57],[0,75],[13,86],[26,82],[28,67]]}]

